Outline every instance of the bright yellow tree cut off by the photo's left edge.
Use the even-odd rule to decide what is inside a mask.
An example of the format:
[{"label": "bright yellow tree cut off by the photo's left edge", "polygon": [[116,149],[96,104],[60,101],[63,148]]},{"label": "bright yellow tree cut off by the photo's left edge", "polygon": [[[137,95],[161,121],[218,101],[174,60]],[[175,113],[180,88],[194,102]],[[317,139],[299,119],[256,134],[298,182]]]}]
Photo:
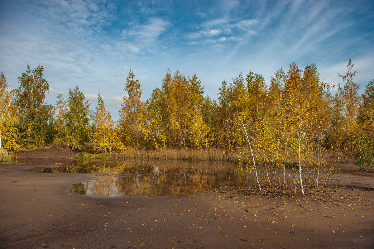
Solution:
[{"label": "bright yellow tree cut off by the photo's left edge", "polygon": [[0,75],[0,149],[16,150],[19,145],[16,144],[17,129],[15,125],[18,117],[14,115],[16,106],[12,104],[12,93],[8,92],[8,84],[4,73]]}]

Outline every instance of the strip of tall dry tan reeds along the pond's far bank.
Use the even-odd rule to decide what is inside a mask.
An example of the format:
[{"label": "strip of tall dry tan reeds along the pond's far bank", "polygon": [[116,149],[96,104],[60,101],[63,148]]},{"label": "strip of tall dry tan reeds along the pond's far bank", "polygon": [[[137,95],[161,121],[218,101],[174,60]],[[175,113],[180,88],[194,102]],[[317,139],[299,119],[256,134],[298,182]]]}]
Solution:
[{"label": "strip of tall dry tan reeds along the pond's far bank", "polygon": [[88,154],[80,153],[78,159],[81,161],[106,160],[106,159],[141,159],[141,160],[187,160],[187,161],[221,161],[236,163],[237,155],[217,148],[203,150],[193,149],[166,149],[166,150],[146,150],[143,148],[127,148],[123,152],[111,154]]}]

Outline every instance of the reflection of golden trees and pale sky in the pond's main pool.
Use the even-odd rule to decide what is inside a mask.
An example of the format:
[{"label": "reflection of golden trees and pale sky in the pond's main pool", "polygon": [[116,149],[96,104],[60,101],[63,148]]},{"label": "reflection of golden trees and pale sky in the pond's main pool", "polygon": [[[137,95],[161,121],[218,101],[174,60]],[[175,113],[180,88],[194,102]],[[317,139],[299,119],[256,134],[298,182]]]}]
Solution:
[{"label": "reflection of golden trees and pale sky in the pond's main pool", "polygon": [[197,169],[134,169],[132,174],[98,176],[80,182],[72,189],[76,194],[95,196],[186,196],[213,188],[247,185],[249,176],[232,171],[200,171]]}]

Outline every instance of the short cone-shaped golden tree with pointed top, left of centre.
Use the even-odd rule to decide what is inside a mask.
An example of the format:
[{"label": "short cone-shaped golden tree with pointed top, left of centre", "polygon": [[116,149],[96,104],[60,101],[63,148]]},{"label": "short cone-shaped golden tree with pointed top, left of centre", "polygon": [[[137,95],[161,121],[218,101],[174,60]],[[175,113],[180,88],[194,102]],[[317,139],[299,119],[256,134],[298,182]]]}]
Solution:
[{"label": "short cone-shaped golden tree with pointed top, left of centre", "polygon": [[115,123],[113,122],[109,112],[105,110],[104,101],[100,93],[98,93],[98,104],[96,111],[93,114],[93,125],[95,132],[92,135],[91,142],[95,145],[95,150],[111,152],[113,149],[122,148],[117,132],[115,130]]}]

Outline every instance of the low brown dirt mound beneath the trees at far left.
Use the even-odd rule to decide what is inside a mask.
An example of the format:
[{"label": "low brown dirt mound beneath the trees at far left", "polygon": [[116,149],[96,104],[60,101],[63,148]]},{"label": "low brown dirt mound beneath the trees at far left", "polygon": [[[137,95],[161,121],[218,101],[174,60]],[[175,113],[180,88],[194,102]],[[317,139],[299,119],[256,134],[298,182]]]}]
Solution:
[{"label": "low brown dirt mound beneath the trees at far left", "polygon": [[65,159],[75,158],[78,153],[67,147],[53,146],[49,150],[34,150],[14,153],[16,159]]}]

